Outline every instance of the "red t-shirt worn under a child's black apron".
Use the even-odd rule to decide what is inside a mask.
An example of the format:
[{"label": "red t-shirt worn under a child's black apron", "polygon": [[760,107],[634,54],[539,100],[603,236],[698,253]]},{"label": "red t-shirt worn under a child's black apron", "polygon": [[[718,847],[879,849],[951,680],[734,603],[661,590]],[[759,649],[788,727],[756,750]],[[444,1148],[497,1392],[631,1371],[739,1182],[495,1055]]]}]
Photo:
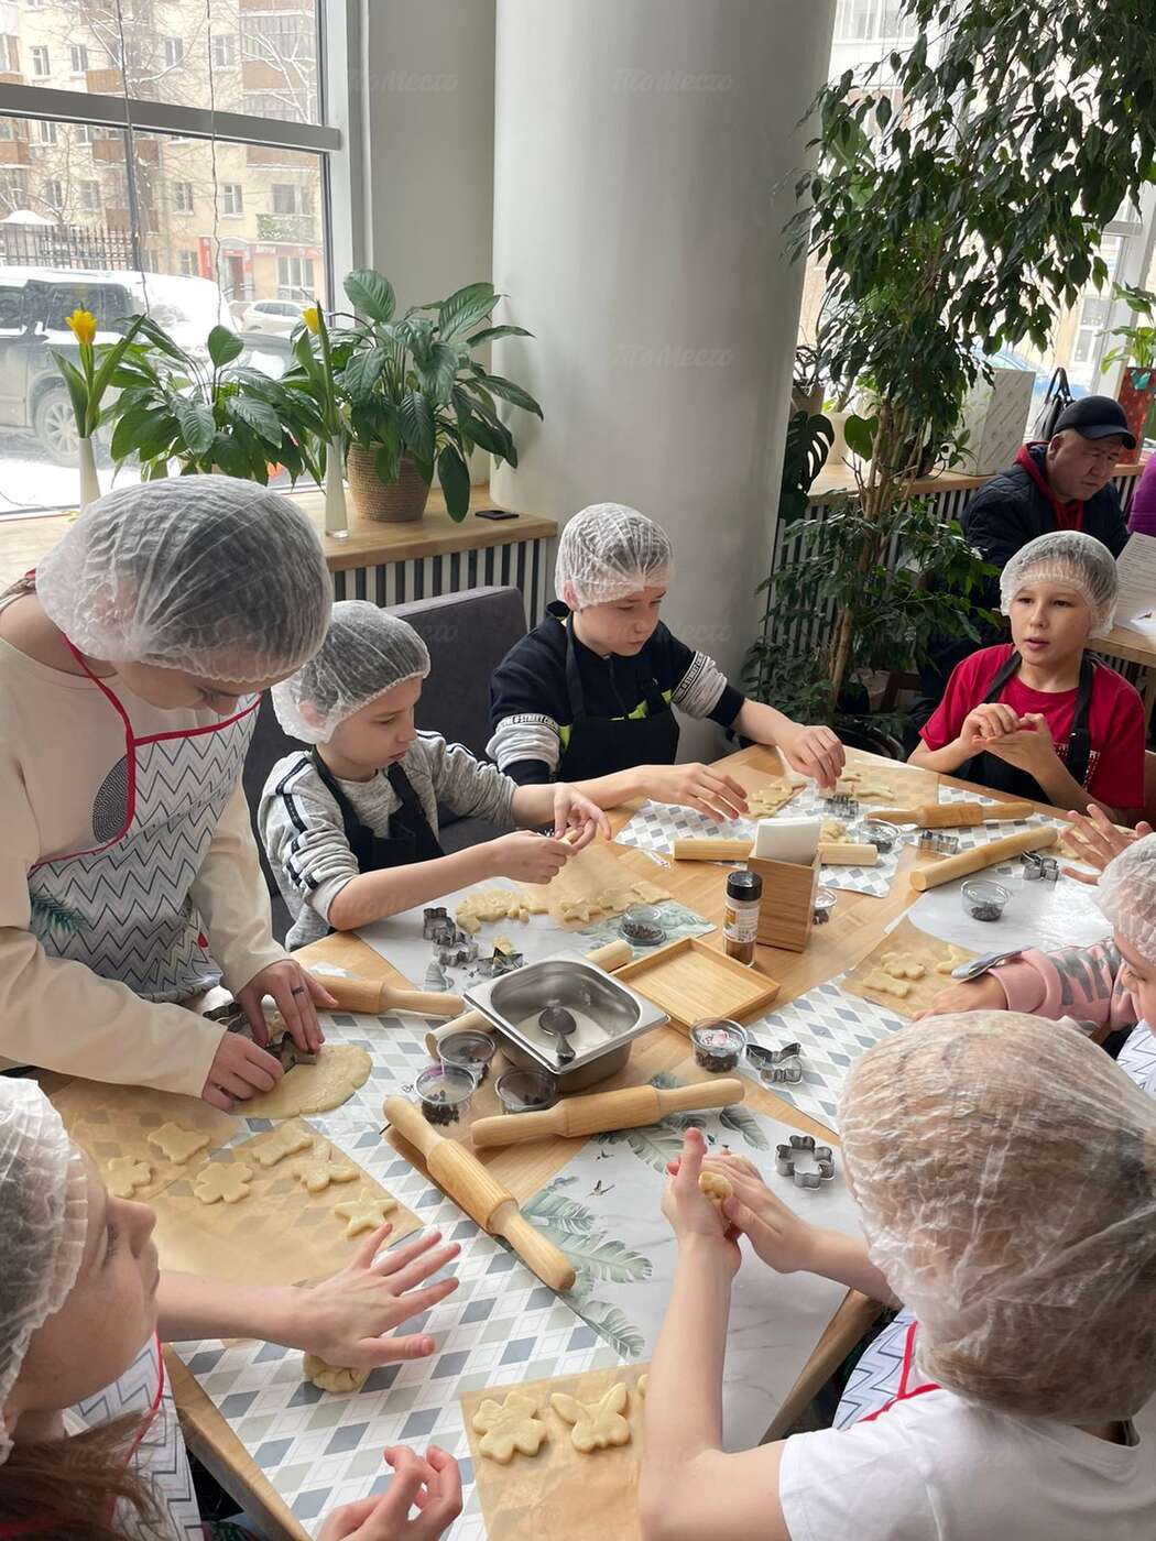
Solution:
[{"label": "red t-shirt worn under a child's black apron", "polygon": [[[996,675],[1011,658],[1011,643],[983,647],[956,664],[943,700],[920,729],[928,749],[943,749],[959,738],[968,712],[986,701]],[[1093,664],[1088,732],[1091,755],[1084,786],[1110,807],[1144,806],[1144,703],[1136,690],[1105,664]],[[1048,721],[1060,760],[1068,752],[1076,690],[1031,690],[1013,675],[999,693],[1020,717],[1039,712]]]}]

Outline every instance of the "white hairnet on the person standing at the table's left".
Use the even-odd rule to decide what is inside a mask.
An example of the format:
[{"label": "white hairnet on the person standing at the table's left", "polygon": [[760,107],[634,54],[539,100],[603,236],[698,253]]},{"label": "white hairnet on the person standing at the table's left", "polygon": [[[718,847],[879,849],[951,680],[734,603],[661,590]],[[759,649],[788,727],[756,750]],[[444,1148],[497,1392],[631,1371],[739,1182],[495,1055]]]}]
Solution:
[{"label": "white hairnet on the person standing at the table's left", "polygon": [[233,476],[99,498],[39,562],[35,592],[82,653],[242,684],[297,669],[333,598],[305,515]]}]

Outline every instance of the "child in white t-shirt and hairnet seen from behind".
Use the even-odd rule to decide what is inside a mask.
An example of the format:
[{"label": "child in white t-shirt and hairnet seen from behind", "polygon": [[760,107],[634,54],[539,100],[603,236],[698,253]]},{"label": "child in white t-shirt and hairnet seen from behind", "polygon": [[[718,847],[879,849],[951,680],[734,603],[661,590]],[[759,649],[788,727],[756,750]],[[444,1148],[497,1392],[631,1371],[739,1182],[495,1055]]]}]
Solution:
[{"label": "child in white t-shirt and hairnet seen from behind", "polygon": [[[969,1012],[868,1049],[838,1131],[866,1241],[801,1219],[744,1162],[704,1162],[686,1134],[663,1197],[678,1262],[646,1392],[646,1541],[1156,1535],[1156,1464],[1131,1422],[1156,1390],[1151,1100],[1074,1026]],[[721,1210],[704,1165],[731,1185]],[[903,1311],[835,1427],[729,1453],[740,1261]]]}]

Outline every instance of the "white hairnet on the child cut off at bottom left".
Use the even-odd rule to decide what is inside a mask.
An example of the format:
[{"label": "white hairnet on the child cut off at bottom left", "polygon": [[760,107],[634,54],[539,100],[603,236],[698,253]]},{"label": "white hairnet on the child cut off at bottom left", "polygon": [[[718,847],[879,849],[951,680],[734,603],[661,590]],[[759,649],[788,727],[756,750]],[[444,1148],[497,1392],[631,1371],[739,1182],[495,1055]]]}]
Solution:
[{"label": "white hairnet on the child cut off at bottom left", "polygon": [[86,1228],[85,1168],[60,1114],[35,1082],[0,1079],[0,1465],[3,1407],[32,1333],[76,1284]]}]

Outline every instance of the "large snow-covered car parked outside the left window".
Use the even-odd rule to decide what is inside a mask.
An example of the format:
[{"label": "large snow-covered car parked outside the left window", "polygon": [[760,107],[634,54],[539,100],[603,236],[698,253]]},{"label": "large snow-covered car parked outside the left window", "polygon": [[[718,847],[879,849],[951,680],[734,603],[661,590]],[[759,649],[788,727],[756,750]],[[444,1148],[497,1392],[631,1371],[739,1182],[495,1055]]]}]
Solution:
[{"label": "large snow-covered car parked outside the left window", "polygon": [[[148,308],[174,342],[191,353],[228,311],[216,284],[159,273],[0,267],[0,428],[32,433],[48,459],[74,465],[72,404],[51,350],[77,358],[65,316],[77,308],[97,319],[97,342],[116,337],[114,322]],[[105,396],[105,404],[113,401]]]}]

